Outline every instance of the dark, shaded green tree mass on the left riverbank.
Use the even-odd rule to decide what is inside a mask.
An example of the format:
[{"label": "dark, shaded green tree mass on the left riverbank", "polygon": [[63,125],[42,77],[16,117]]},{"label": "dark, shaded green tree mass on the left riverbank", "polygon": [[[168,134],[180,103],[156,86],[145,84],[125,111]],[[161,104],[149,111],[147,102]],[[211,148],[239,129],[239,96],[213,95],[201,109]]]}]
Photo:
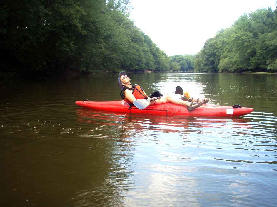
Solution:
[{"label": "dark, shaded green tree mass on the left riverbank", "polygon": [[168,56],[128,19],[130,2],[4,0],[1,72],[169,70]]}]

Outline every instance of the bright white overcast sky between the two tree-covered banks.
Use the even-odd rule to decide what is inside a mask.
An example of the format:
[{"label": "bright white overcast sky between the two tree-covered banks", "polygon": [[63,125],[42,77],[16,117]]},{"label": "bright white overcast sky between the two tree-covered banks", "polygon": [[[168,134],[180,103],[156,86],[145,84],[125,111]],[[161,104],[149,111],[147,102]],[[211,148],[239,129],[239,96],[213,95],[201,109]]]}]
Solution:
[{"label": "bright white overcast sky between the two tree-covered banks", "polygon": [[276,0],[132,0],[130,19],[168,56],[196,54],[244,13],[275,5]]}]

